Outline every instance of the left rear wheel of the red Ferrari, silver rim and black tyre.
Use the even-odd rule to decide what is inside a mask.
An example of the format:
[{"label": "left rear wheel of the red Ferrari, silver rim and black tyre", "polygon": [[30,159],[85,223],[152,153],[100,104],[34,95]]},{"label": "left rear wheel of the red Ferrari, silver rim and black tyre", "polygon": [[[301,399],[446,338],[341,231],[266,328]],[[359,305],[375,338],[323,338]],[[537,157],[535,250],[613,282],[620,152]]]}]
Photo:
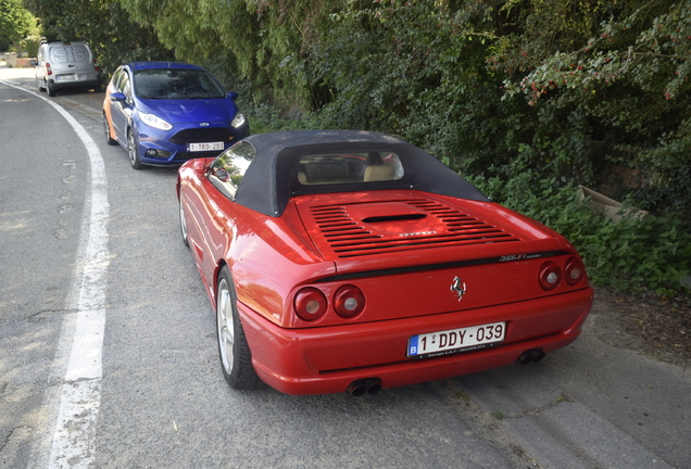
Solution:
[{"label": "left rear wheel of the red Ferrari, silver rim and black tyre", "polygon": [[252,367],[252,354],[240,324],[235,284],[227,266],[221,269],[216,290],[216,338],[221,369],[230,388],[256,386],[259,377]]}]

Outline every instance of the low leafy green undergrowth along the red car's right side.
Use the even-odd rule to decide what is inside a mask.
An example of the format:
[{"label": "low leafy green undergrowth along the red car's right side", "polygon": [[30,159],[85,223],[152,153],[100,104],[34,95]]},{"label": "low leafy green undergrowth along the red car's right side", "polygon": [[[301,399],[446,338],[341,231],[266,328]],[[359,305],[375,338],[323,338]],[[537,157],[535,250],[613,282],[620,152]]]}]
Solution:
[{"label": "low leafy green undergrowth along the red car's right side", "polygon": [[668,295],[681,290],[679,281],[691,270],[691,234],[678,219],[651,215],[612,223],[578,203],[575,186],[531,169],[508,181],[481,176],[470,181],[495,202],[564,234],[595,284]]}]

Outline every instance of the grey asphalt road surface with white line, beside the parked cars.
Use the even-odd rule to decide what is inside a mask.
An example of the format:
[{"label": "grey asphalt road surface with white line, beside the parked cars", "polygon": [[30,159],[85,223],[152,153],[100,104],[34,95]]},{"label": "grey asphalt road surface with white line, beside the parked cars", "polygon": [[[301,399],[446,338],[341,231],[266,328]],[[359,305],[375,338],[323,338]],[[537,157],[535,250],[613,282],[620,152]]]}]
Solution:
[{"label": "grey asphalt road surface with white line, beside the parked cars", "polygon": [[133,170],[101,101],[0,66],[0,467],[691,467],[691,371],[611,345],[598,302],[526,367],[360,398],[230,390],[175,170]]}]

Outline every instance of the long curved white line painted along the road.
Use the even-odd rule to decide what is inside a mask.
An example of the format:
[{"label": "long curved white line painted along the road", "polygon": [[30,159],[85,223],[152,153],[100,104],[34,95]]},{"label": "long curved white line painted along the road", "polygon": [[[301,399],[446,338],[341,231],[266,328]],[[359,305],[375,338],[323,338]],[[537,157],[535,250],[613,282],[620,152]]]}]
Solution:
[{"label": "long curved white line painted along the road", "polygon": [[[109,264],[108,183],[103,157],[96,142],[81,125],[63,107],[42,96],[9,84],[42,99],[55,109],[81,140],[89,155],[91,166],[91,190],[87,191],[87,205],[91,210],[88,219],[83,219],[81,236],[87,238],[86,249],[77,259],[78,287],[77,318],[73,331],[63,333],[73,337],[72,352],[65,372],[60,410],[52,435],[48,467],[87,468],[93,462],[96,421],[101,404],[102,346],[105,329],[105,274]],[[68,303],[73,303],[68,300]],[[74,304],[68,304],[71,309]],[[65,320],[70,320],[65,318]]]}]

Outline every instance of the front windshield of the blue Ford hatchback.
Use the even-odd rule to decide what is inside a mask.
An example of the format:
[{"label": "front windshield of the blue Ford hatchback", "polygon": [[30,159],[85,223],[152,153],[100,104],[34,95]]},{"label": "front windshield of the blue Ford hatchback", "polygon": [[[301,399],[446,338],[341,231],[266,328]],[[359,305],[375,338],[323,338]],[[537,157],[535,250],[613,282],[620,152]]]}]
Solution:
[{"label": "front windshield of the blue Ford hatchback", "polygon": [[135,96],[141,99],[225,98],[225,90],[205,71],[153,68],[135,72]]}]

